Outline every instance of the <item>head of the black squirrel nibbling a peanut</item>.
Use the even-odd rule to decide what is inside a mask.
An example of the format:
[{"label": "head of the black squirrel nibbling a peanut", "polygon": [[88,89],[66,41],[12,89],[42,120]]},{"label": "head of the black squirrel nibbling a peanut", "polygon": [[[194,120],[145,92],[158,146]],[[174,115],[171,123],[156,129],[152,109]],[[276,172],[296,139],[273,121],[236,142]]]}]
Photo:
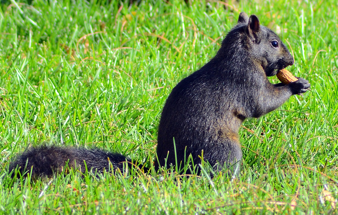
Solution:
[{"label": "head of the black squirrel nibbling a peanut", "polygon": [[[266,76],[293,64],[293,57],[281,39],[269,28],[260,25],[255,15],[241,12],[238,24],[228,33],[222,42],[222,50],[229,55],[247,56],[250,61],[263,67]],[[228,50],[228,51],[226,51]],[[236,52],[242,52],[238,55]]]}]

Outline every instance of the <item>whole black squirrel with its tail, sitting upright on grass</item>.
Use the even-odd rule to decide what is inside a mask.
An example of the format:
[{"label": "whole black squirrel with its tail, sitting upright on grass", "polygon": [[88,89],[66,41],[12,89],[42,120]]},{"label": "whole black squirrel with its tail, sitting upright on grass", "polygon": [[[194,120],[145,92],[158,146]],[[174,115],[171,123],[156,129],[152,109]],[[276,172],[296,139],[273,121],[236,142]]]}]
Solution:
[{"label": "whole black squirrel with its tail, sitting upright on grass", "polygon": [[[267,76],[292,64],[293,57],[281,39],[260,25],[255,15],[249,18],[241,12],[216,56],[180,81],[167,98],[159,125],[155,169],[176,164],[182,167],[190,155],[198,164],[203,154],[216,171],[233,164],[238,170],[241,123],[275,110],[291,95],[310,88],[303,78],[287,85],[268,81]],[[32,176],[50,176],[67,162],[75,167],[82,166],[83,160],[88,170],[97,172],[110,168],[109,161],[113,169],[123,168],[125,161],[132,165],[125,156],[100,149],[39,146],[17,156],[9,170],[19,166],[25,175],[33,166]]]}]

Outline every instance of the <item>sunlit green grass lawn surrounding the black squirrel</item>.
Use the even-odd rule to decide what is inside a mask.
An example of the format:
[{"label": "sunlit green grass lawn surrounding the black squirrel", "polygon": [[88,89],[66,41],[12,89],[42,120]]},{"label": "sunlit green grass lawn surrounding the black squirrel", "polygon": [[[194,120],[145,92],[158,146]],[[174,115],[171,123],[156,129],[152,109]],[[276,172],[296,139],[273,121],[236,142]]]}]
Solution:
[{"label": "sunlit green grass lawn surrounding the black squirrel", "polygon": [[[338,199],[338,4],[229,2],[4,1],[0,213],[337,213],[322,190]],[[9,161],[42,142],[105,148],[149,166],[166,97],[215,55],[240,11],[281,36],[295,59],[289,69],[311,83],[303,97],[244,122],[240,180],[221,172],[161,181],[137,170],[8,176]]]}]

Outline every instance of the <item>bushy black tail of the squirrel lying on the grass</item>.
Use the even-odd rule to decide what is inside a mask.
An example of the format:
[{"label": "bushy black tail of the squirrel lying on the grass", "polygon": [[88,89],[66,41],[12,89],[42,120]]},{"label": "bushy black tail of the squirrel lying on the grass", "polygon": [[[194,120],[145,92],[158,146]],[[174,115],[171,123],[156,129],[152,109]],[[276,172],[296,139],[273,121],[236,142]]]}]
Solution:
[{"label": "bushy black tail of the squirrel lying on the grass", "polygon": [[[110,166],[110,163],[111,165]],[[27,176],[27,173],[34,177],[52,176],[56,172],[61,172],[68,162],[68,167],[78,168],[81,166],[81,171],[85,171],[84,162],[87,169],[90,171],[97,170],[98,173],[103,170],[113,170],[120,168],[123,170],[123,163],[128,162],[131,166],[131,160],[117,153],[103,151],[101,149],[86,149],[74,147],[60,146],[38,146],[28,148],[24,153],[18,155],[14,162],[9,166],[9,171],[14,170],[18,166],[18,172],[21,175]],[[27,165],[26,165],[27,164]],[[31,170],[32,167],[32,170]],[[13,171],[12,177],[19,177]]]}]

